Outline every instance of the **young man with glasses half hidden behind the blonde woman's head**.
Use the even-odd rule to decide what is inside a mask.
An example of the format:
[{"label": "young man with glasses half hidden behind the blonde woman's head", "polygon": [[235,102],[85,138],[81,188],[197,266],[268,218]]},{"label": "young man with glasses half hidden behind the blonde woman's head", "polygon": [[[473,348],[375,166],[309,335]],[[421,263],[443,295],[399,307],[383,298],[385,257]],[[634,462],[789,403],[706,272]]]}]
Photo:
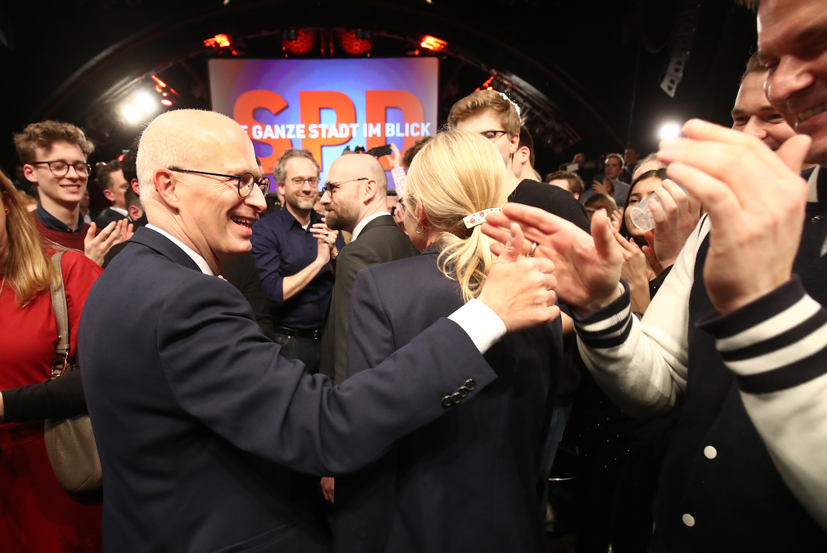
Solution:
[{"label": "young man with glasses half hidden behind the blonde woman's head", "polygon": [[520,116],[516,104],[494,90],[477,90],[455,103],[448,114],[448,126],[478,132],[500,151],[508,167],[509,202],[540,207],[589,231],[586,209],[571,194],[533,179],[514,174],[514,155],[519,148]]}]

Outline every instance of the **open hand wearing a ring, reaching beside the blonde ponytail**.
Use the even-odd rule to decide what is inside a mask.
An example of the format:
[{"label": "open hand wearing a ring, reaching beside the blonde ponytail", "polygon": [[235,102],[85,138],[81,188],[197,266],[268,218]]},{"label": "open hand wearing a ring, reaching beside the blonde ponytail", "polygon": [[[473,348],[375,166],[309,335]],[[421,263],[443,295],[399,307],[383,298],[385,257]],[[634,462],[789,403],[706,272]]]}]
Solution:
[{"label": "open hand wearing a ring, reaching beside the blonde ponytail", "polygon": [[[586,316],[619,297],[623,253],[605,211],[595,212],[589,236],[571,222],[542,209],[507,203],[502,213],[488,214],[482,231],[505,244],[510,234],[503,227],[512,222],[518,223],[525,234],[523,251],[528,251],[531,242],[537,242],[534,256],[552,260],[557,277],[556,292],[581,315]],[[502,247],[494,244],[491,251],[499,253]]]}]

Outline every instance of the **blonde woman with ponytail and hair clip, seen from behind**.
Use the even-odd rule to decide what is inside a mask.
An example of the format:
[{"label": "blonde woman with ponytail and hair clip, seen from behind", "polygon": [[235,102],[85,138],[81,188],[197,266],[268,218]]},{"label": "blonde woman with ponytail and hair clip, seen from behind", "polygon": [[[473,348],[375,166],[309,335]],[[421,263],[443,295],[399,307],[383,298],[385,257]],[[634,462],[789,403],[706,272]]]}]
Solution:
[{"label": "blonde woman with ponytail and hair clip, seen from behind", "polygon": [[[467,131],[442,132],[414,157],[401,204],[422,254],[356,277],[350,375],[379,365],[437,319],[475,301],[494,261],[480,223],[503,205],[505,177],[495,146]],[[475,383],[446,390],[434,398],[445,416],[374,465],[337,478],[334,549],[545,551],[538,450],[560,355],[559,319],[505,336],[485,354],[500,374],[494,384],[461,408]]]}]

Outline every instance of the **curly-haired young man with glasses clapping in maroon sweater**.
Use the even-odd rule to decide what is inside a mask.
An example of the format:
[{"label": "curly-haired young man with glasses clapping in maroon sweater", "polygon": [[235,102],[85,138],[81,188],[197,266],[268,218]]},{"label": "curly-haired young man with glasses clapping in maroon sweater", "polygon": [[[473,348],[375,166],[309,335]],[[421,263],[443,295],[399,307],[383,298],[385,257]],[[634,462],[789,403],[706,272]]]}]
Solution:
[{"label": "curly-haired young man with glasses clapping in maroon sweater", "polygon": [[24,176],[37,184],[40,194],[33,213],[37,231],[45,240],[83,251],[103,264],[109,248],[129,238],[131,227],[127,221],[117,222],[96,233],[80,214],[90,170],[86,156],[94,150],[84,131],[69,123],[32,123],[14,136],[14,145]]}]

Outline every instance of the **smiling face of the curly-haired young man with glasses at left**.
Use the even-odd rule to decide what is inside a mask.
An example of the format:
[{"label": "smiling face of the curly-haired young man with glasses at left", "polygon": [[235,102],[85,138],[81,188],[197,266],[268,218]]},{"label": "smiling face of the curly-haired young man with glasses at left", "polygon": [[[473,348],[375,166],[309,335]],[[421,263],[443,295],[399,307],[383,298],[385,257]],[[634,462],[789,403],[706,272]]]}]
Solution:
[{"label": "smiling face of the curly-haired young man with glasses at left", "polygon": [[84,197],[88,179],[88,175],[80,175],[74,169],[74,164],[86,163],[86,156],[80,146],[63,141],[55,142],[48,148],[35,148],[35,158],[36,161],[63,161],[69,164],[69,172],[62,177],[55,176],[45,163],[23,166],[26,179],[37,183],[45,210],[49,211],[55,205],[70,210],[78,207],[80,199]]}]

